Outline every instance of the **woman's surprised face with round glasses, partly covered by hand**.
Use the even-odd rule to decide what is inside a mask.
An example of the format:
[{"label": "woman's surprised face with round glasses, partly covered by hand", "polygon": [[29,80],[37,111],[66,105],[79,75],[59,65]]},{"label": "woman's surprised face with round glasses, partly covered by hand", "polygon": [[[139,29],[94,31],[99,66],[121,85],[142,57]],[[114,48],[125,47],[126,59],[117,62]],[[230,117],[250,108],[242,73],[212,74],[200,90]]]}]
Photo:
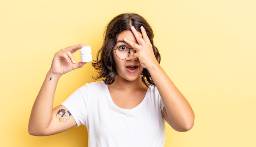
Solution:
[{"label": "woman's surprised face with round glasses, partly covered by hand", "polygon": [[[125,30],[117,35],[117,43],[114,47],[115,49],[122,45],[124,45],[128,48],[131,48],[126,42],[124,42],[124,38],[132,40],[132,42],[138,43],[135,36],[133,35],[132,31]],[[130,49],[130,55],[135,53],[135,51],[136,51],[135,49]],[[141,79],[141,73],[144,68],[141,66],[139,59],[135,58],[133,60],[127,60],[127,59],[121,60],[121,59],[117,58],[114,49],[113,49],[113,58],[115,61],[117,74],[118,74],[116,79],[122,78],[122,79],[128,80],[128,81],[134,81],[134,80]]]}]

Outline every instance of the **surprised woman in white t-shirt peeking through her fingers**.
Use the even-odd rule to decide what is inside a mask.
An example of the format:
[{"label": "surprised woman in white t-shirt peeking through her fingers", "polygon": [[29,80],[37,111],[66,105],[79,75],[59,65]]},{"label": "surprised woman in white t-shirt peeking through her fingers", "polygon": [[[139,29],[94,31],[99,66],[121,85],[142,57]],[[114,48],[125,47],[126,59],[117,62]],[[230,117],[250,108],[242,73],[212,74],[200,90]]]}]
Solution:
[{"label": "surprised woman in white t-shirt peeking through her fingers", "polygon": [[[72,55],[83,44],[55,53],[31,111],[29,134],[47,136],[85,125],[88,146],[163,147],[164,121],[177,131],[191,129],[193,110],[159,65],[153,37],[148,22],[138,14],[113,18],[92,63],[99,71],[95,79],[103,81],[85,84],[52,109],[61,75],[86,64],[76,63]],[[56,117],[62,109],[70,114],[65,121]]]}]

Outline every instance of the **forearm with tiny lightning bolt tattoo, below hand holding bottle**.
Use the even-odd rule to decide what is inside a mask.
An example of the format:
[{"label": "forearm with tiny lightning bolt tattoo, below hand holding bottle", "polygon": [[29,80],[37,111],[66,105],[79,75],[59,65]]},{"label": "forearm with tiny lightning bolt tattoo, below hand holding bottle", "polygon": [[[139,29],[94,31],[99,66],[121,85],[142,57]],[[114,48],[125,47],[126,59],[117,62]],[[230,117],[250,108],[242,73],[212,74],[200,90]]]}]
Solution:
[{"label": "forearm with tiny lightning bolt tattoo, below hand holding bottle", "polygon": [[52,119],[54,94],[59,78],[58,75],[47,73],[31,110],[29,131],[40,131],[49,126]]}]

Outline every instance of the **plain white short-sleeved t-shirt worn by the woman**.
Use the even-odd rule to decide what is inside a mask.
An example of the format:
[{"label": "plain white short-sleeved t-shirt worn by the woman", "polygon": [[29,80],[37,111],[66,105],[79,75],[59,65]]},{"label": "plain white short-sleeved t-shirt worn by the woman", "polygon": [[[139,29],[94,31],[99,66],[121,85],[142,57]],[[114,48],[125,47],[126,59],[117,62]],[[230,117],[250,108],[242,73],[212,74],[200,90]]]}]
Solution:
[{"label": "plain white short-sleeved t-shirt worn by the woman", "polygon": [[86,126],[89,147],[164,147],[164,104],[157,87],[150,85],[132,109],[115,105],[103,81],[83,85],[61,105],[77,126]]}]

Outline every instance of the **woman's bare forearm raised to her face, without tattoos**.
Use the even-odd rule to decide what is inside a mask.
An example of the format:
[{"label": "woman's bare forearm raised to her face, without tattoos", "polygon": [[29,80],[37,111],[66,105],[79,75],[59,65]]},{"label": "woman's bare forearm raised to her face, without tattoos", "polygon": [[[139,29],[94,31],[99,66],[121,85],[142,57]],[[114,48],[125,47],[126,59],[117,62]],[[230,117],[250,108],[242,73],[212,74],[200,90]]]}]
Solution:
[{"label": "woman's bare forearm raised to her face, without tattoos", "polygon": [[194,113],[189,102],[173,84],[165,71],[156,65],[149,69],[164,103],[168,118],[166,121],[177,131],[186,131],[193,127]]}]

